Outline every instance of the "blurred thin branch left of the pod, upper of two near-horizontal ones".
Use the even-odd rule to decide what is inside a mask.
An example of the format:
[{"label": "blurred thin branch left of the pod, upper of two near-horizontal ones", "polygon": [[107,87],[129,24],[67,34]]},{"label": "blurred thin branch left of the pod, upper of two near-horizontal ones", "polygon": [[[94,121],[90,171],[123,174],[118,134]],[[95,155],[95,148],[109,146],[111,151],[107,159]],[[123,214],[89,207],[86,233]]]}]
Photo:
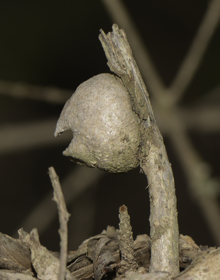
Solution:
[{"label": "blurred thin branch left of the pod, upper of two near-horizontal ones", "polygon": [[18,98],[29,98],[50,103],[64,104],[72,95],[72,90],[57,87],[33,86],[0,80],[0,94]]}]

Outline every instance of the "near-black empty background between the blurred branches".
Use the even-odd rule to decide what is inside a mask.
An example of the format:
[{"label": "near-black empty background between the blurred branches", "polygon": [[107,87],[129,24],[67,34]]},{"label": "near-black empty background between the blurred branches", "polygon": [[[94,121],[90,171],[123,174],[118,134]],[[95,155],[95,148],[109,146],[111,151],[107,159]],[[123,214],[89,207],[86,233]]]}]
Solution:
[{"label": "near-black empty background between the blurred branches", "polygon": [[[202,20],[208,1],[127,0],[124,3],[163,81],[170,85]],[[75,90],[80,83],[94,75],[110,73],[98,35],[101,28],[105,33],[112,31],[112,23],[98,0],[2,0],[0,79]],[[182,98],[181,106],[193,106],[208,90],[219,84],[219,49],[220,27],[211,39],[202,64]],[[0,124],[47,117],[58,119],[62,107],[2,95]],[[220,133],[189,134],[196,150],[211,164],[212,174],[219,175]],[[169,139],[165,138],[164,141],[175,179],[179,231],[190,235],[198,245],[214,246],[209,228],[189,193],[186,178]],[[12,235],[27,213],[51,189],[47,174],[49,166],[54,166],[61,180],[73,168],[74,164],[62,155],[66,147],[47,146],[1,156],[1,232]],[[128,207],[134,238],[138,234],[150,233],[149,193],[145,189],[147,179],[139,171],[106,174],[93,190],[82,194],[82,203],[86,196],[95,202],[96,214],[91,235],[99,234],[107,225],[117,228],[118,209],[122,204]],[[58,227],[57,219],[40,236],[41,243],[50,250],[59,250]]]}]

